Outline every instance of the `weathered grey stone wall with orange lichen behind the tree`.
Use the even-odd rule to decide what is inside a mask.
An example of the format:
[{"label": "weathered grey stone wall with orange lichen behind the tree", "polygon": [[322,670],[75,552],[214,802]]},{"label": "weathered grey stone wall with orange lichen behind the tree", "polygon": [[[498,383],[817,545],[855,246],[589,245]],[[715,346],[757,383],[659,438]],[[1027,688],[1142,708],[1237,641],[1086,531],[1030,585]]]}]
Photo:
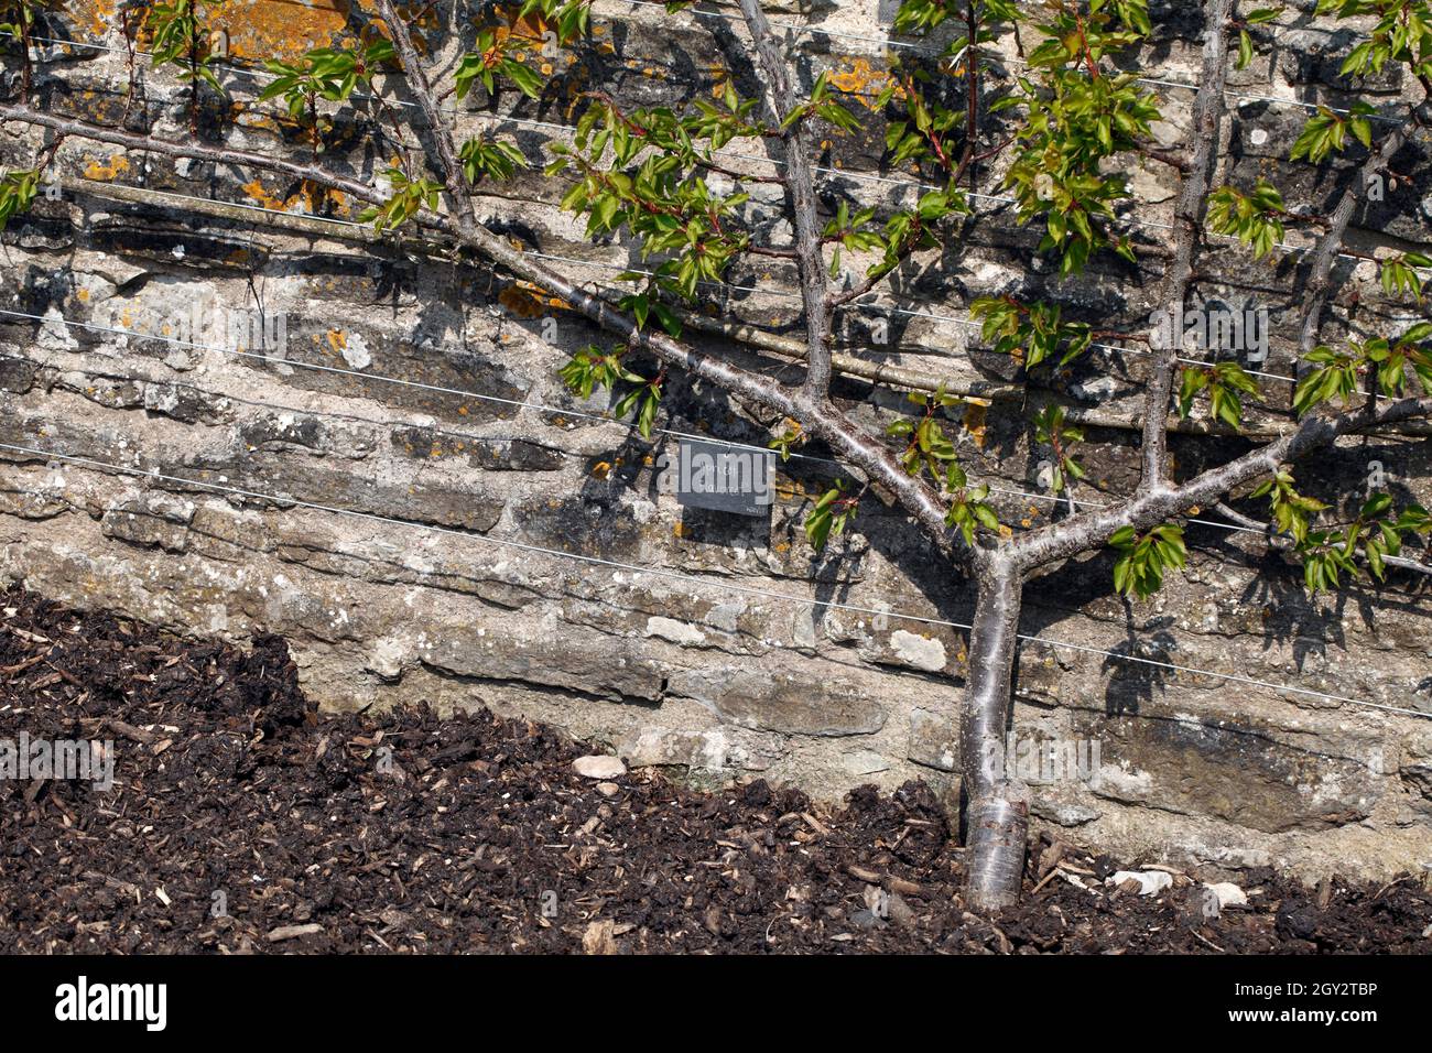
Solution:
[{"label": "weathered grey stone wall with orange lichen behind the tree", "polygon": [[[848,34],[793,37],[803,76],[831,70],[869,120],[868,139],[823,145],[826,203],[845,195],[888,206],[909,193],[869,181],[885,64],[878,44],[851,39],[881,36],[889,4],[768,6],[782,21]],[[226,7],[222,20],[239,57],[298,54],[357,24],[344,0]],[[1313,29],[1309,7],[1285,14],[1289,27],[1272,52],[1233,76],[1236,92],[1333,105],[1353,97],[1335,80],[1348,34]],[[495,125],[537,162],[553,132],[505,117],[570,123],[580,92],[593,86],[629,103],[689,100],[726,76],[753,89],[739,30],[727,23],[607,0],[597,11],[594,47],[570,64],[554,60],[556,86],[541,103],[478,92],[463,105],[463,135]],[[1194,7],[1156,4],[1154,16],[1156,40],[1134,62],[1163,80],[1191,82]],[[49,29],[117,46],[112,21],[103,0],[70,0]],[[434,32],[434,63],[451,67],[461,37]],[[50,46],[44,57],[44,106],[125,119],[120,52]],[[6,62],[13,73],[13,57]],[[243,97],[262,83],[232,72],[226,82]],[[180,86],[140,69],[136,87],[130,120],[143,106],[160,132],[186,135]],[[1402,92],[1388,79],[1365,95],[1390,105]],[[1160,97],[1167,119],[1157,136],[1177,146],[1191,92],[1161,89]],[[213,136],[218,106],[211,103],[208,119]],[[1282,160],[1302,109],[1254,99],[1230,99],[1230,109],[1223,178],[1246,185],[1263,175],[1292,205],[1315,209],[1340,191],[1345,166]],[[226,116],[229,143],[304,156],[271,106],[233,106]],[[420,133],[414,116],[408,135]],[[387,162],[371,136],[367,117],[341,117],[344,145],[325,163],[375,178]],[[27,165],[34,145],[20,129],[0,133],[6,163]],[[1358,251],[1432,244],[1426,152],[1425,140],[1411,146],[1395,168],[1412,179],[1359,212],[1349,238]],[[0,580],[180,633],[279,632],[306,689],[334,709],[484,703],[699,779],[760,774],[838,795],[921,776],[954,791],[965,652],[961,632],[939,622],[965,622],[971,593],[901,514],[868,501],[855,532],[818,557],[800,521],[805,494],[831,468],[809,460],[782,466],[769,520],[682,509],[654,483],[654,458],[670,437],[643,443],[600,420],[606,400],[581,404],[563,388],[557,368],[601,337],[540,289],[414,246],[367,246],[351,226],[299,235],[203,218],[178,201],[122,203],[93,185],[301,211],[301,188],[268,175],[77,140],[59,156],[72,181],[92,182],[66,183],[57,201],[42,201],[3,235],[0,308],[47,321],[0,315],[0,443],[92,463],[0,450]],[[1170,216],[1174,183],[1156,162],[1127,163],[1140,196],[1131,215],[1153,223],[1141,228],[1140,265],[1101,258],[1058,282],[1031,251],[1038,235],[987,202],[981,211],[990,215],[961,234],[962,255],[921,258],[901,272],[886,304],[909,314],[848,314],[845,347],[955,383],[1008,378],[1007,360],[968,347],[968,327],[948,321],[971,298],[1000,291],[1044,291],[1078,317],[1137,328],[1156,304],[1156,254],[1166,239],[1157,223]],[[987,182],[998,193],[997,173]],[[558,186],[530,172],[490,189],[484,219],[553,256],[629,262],[621,245],[586,242],[554,208],[558,198]],[[345,201],[325,206],[337,218],[357,212]],[[749,208],[780,241],[789,235],[778,206],[758,192]],[[1227,246],[1210,252],[1204,268],[1227,282],[1206,284],[1210,295],[1253,298],[1273,311],[1279,328],[1264,368],[1286,372],[1295,325],[1280,315],[1297,302],[1297,258],[1254,265]],[[599,266],[587,274],[614,278]],[[1409,314],[1380,302],[1375,277],[1370,264],[1339,271],[1362,294],[1359,332]],[[792,330],[796,302],[783,268],[746,271],[736,282],[746,288],[713,301],[715,314]],[[226,318],[255,307],[285,318],[284,361],[218,350]],[[872,341],[876,318],[891,322],[889,345]],[[156,331],[189,344],[140,335]],[[1090,405],[1137,413],[1130,397],[1143,367],[1134,354],[1095,354],[1064,381]],[[762,368],[790,372],[770,360]],[[898,391],[846,380],[839,394],[863,403],[872,421],[901,410]],[[1270,394],[1276,405],[1286,398],[1286,390]],[[1007,523],[1025,529],[1047,521],[1051,509],[1018,496],[1037,491],[1044,451],[1010,424],[1014,408],[971,407],[959,446],[972,476],[1017,491],[1001,493],[1000,507]],[[663,413],[672,430],[756,444],[772,423],[682,378]],[[1117,493],[1136,481],[1136,433],[1093,428],[1090,446],[1091,486]],[[1174,448],[1180,468],[1193,470],[1242,446],[1180,436]],[[1370,461],[1402,499],[1432,504],[1428,443],[1416,436],[1346,443],[1300,479],[1327,494],[1360,490]],[[1090,650],[1024,646],[1017,726],[1097,739],[1103,762],[1087,785],[1038,788],[1035,815],[1067,840],[1150,861],[1272,862],[1309,875],[1432,865],[1432,722],[1101,653],[1432,716],[1422,579],[1393,572],[1385,586],[1352,585],[1310,602],[1297,569],[1256,539],[1199,524],[1189,537],[1187,573],[1147,603],[1113,593],[1107,554],[1030,586],[1024,632]]]}]

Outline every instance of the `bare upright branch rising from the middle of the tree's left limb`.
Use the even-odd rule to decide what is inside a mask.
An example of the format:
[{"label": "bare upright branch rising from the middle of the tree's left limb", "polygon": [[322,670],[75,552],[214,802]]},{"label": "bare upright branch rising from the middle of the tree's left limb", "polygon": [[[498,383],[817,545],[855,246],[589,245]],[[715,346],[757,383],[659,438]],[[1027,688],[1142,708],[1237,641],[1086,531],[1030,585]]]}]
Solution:
[{"label": "bare upright branch rising from the middle of the tree's left limb", "polygon": [[[756,56],[766,72],[766,105],[779,126],[796,107],[790,67],[770,36],[770,23],[759,0],[740,0]],[[796,120],[782,139],[786,160],[786,203],[795,228],[796,265],[800,271],[800,299],[806,315],[808,397],[823,401],[831,391],[831,305],[826,302],[825,255],[821,252],[821,221],[816,212],[815,178],[811,172],[813,142],[806,117]]]}]

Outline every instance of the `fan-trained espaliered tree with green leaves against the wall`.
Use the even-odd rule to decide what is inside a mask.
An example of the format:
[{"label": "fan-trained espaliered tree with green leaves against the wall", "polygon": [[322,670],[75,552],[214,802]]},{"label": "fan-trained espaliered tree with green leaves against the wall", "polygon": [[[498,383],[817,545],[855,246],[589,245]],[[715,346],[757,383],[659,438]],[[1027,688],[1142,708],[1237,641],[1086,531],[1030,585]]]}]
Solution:
[{"label": "fan-trained espaliered tree with green leaves against the wall", "polygon": [[[672,10],[686,6],[669,4]],[[1329,314],[1339,309],[1335,264],[1363,188],[1388,172],[1412,133],[1429,123],[1428,0],[1323,0],[1319,7],[1325,16],[1376,20],[1372,34],[1350,49],[1345,74],[1356,79],[1402,66],[1423,92],[1416,105],[1382,112],[1378,120],[1362,103],[1346,110],[1320,107],[1307,117],[1293,159],[1330,165],[1342,156],[1363,158],[1343,175],[1346,189],[1326,215],[1287,208],[1279,189],[1263,181],[1216,186],[1229,70],[1246,66],[1276,32],[1279,9],[1240,13],[1234,0],[1204,0],[1190,136],[1183,149],[1170,150],[1150,132],[1160,117],[1158,99],[1118,66],[1151,33],[1147,0],[906,0],[895,30],[922,37],[929,47],[919,59],[891,60],[889,86],[878,99],[885,116],[882,158],[891,170],[916,168],[934,189],[908,208],[879,211],[852,209],[822,195],[815,172],[818,143],[836,135],[863,135],[865,122],[852,115],[825,76],[802,79],[758,0],[740,0],[750,63],[746,73],[753,74],[745,83],[759,83],[758,95],[743,96],[735,77],[713,99],[684,107],[626,109],[590,92],[581,99],[574,136],[547,145],[546,173],[563,181],[563,208],[586,219],[593,239],[626,239],[646,261],[643,272],[624,275],[634,289],[619,299],[548,266],[478,219],[474,201],[484,183],[511,178],[530,162],[500,138],[478,135],[460,142],[442,106],[450,96],[465,99],[477,86],[490,95],[540,97],[544,76],[524,56],[543,43],[584,46],[591,20],[587,0],[526,0],[508,32],[497,32],[480,4],[468,10],[460,3],[450,14],[478,21],[477,47],[463,56],[450,83],[430,79],[417,42],[421,30],[392,0],[377,0],[377,19],[359,43],[318,49],[292,63],[268,63],[276,79],[262,97],[281,102],[289,119],[306,128],[312,149],[305,159],[100,126],[36,107],[27,33],[43,7],[43,0],[0,0],[7,24],[16,27],[10,54],[19,56],[23,70],[11,99],[0,103],[0,122],[43,132],[37,163],[7,172],[0,182],[0,222],[36,198],[47,178],[44,169],[56,163],[56,146],[66,138],[279,173],[315,189],[319,198],[338,191],[367,206],[364,215],[382,238],[408,231],[444,241],[463,255],[480,256],[541,287],[594,322],[604,331],[604,342],[573,355],[563,380],[583,397],[610,390],[614,413],[630,415],[643,436],[650,436],[660,418],[664,385],[679,371],[766,418],[782,420],[772,430],[770,447],[783,457],[811,440],[823,443],[848,479],[832,480],[812,503],[805,526],[818,549],[848,529],[872,490],[898,506],[951,573],[968,579],[975,592],[959,742],[968,898],[978,908],[1011,903],[1022,874],[1027,791],[1001,765],[987,761],[1010,721],[1027,582],[1060,562],[1107,547],[1114,553],[1117,590],[1146,597],[1184,564],[1181,521],[1196,509],[1214,507],[1239,523],[1266,526],[1267,543],[1302,562],[1310,590],[1336,587],[1359,573],[1382,579],[1389,566],[1425,570],[1402,553],[1405,542],[1429,532],[1425,510],[1396,507],[1382,493],[1368,500],[1306,493],[1295,466],[1345,436],[1432,414],[1432,322],[1360,341],[1319,342]],[[216,10],[222,19],[222,7]],[[175,0],[153,7],[136,24],[168,42],[155,50],[155,62],[175,66],[193,85],[185,116],[198,120],[200,85],[215,92],[233,89],[221,83],[221,67],[198,36],[193,11],[192,0]],[[536,30],[524,33],[521,26]],[[1004,59],[1011,40],[1022,56],[1018,76],[1008,72]],[[359,87],[362,102],[355,92]],[[421,120],[394,117],[397,102],[415,106]],[[381,183],[328,163],[325,128],[341,107],[368,107],[374,135],[392,136],[395,159]],[[420,146],[402,146],[411,140]],[[765,150],[776,162],[776,173],[730,168],[722,150],[732,143]],[[1118,169],[1138,158],[1169,166],[1181,181],[1166,245],[1140,244],[1120,216],[1118,206],[1131,195]],[[746,209],[749,191],[760,183],[783,198],[789,236],[779,242],[763,239]],[[1001,529],[990,489],[974,484],[959,464],[949,431],[954,421],[948,410],[981,391],[921,384],[901,370],[874,370],[843,350],[836,335],[842,308],[876,294],[908,261],[948,255],[958,248],[965,225],[985,222],[971,205],[977,188],[1012,195],[1018,221],[1040,234],[1035,252],[1050,259],[1060,277],[1081,272],[1101,254],[1160,264],[1153,302],[1163,305],[1163,328],[1173,334],[1171,340],[1154,340],[1147,331],[1095,330],[1057,302],[1057,279],[1055,299],[1004,295],[968,305],[988,347],[1017,360],[1021,380],[1014,387],[1040,395],[1028,400],[1025,424],[1032,441],[1054,454],[1054,496],[1068,497],[1068,514],[1012,534]],[[1260,378],[1237,361],[1197,357],[1207,348],[1181,342],[1181,318],[1196,287],[1213,281],[1207,268],[1217,258],[1210,249],[1227,254],[1233,242],[1243,242],[1256,258],[1269,256],[1282,252],[1280,242],[1293,225],[1307,226],[1315,239],[1296,278],[1302,302],[1289,328],[1297,334],[1300,361],[1289,407],[1286,391],[1264,391]],[[793,268],[800,289],[800,340],[713,321],[690,309],[706,287],[732,281],[733,269],[750,259],[779,259]],[[1428,264],[1416,254],[1382,261],[1386,295],[1421,305],[1421,268]],[[727,344],[703,340],[713,331],[758,352],[803,361],[803,377],[782,383],[739,364],[720,351]],[[1045,395],[1057,390],[1058,370],[1087,355],[1095,342],[1110,341],[1141,345],[1140,361],[1148,365],[1136,423],[1141,479],[1133,493],[1113,500],[1106,496],[1103,504],[1080,509],[1073,497],[1084,474],[1078,446],[1083,424],[1095,418]],[[836,372],[904,384],[916,413],[885,431],[874,430],[832,394]],[[1216,467],[1177,477],[1170,461],[1171,431],[1250,436],[1244,418],[1253,408],[1264,421],[1273,420],[1257,433],[1259,444]],[[1266,501],[1270,523],[1232,510],[1226,501],[1233,497]]]}]

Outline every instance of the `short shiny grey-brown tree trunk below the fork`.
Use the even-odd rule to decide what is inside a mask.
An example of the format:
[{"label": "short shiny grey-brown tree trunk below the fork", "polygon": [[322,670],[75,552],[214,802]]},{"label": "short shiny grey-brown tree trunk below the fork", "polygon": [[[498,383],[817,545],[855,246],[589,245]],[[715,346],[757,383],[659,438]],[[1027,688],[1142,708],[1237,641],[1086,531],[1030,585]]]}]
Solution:
[{"label": "short shiny grey-brown tree trunk below the fork", "polygon": [[1030,805],[1007,771],[1004,735],[1024,592],[1018,567],[1000,556],[981,560],[969,633],[969,679],[959,719],[965,807],[965,888],[975,910],[1020,898]]}]

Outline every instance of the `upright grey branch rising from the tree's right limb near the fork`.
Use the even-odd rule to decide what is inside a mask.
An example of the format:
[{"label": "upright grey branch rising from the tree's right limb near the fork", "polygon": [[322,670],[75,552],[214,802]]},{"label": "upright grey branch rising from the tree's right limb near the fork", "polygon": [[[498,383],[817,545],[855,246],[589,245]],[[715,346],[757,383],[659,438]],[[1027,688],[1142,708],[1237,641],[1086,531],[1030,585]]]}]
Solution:
[{"label": "upright grey branch rising from the tree's right limb near the fork", "polygon": [[1219,138],[1223,128],[1223,87],[1229,76],[1227,23],[1233,11],[1233,0],[1209,0],[1204,7],[1203,72],[1199,77],[1199,95],[1193,103],[1193,158],[1179,193],[1174,211],[1173,264],[1164,275],[1160,301],[1169,311],[1177,312],[1169,327],[1167,347],[1156,352],[1153,375],[1144,398],[1144,473],[1140,490],[1157,491],[1167,486],[1169,476],[1169,433],[1164,417],[1173,395],[1173,378],[1179,368],[1181,342],[1183,305],[1193,284],[1193,254],[1203,229],[1203,213],[1207,208],[1209,186],[1219,159]]}]

